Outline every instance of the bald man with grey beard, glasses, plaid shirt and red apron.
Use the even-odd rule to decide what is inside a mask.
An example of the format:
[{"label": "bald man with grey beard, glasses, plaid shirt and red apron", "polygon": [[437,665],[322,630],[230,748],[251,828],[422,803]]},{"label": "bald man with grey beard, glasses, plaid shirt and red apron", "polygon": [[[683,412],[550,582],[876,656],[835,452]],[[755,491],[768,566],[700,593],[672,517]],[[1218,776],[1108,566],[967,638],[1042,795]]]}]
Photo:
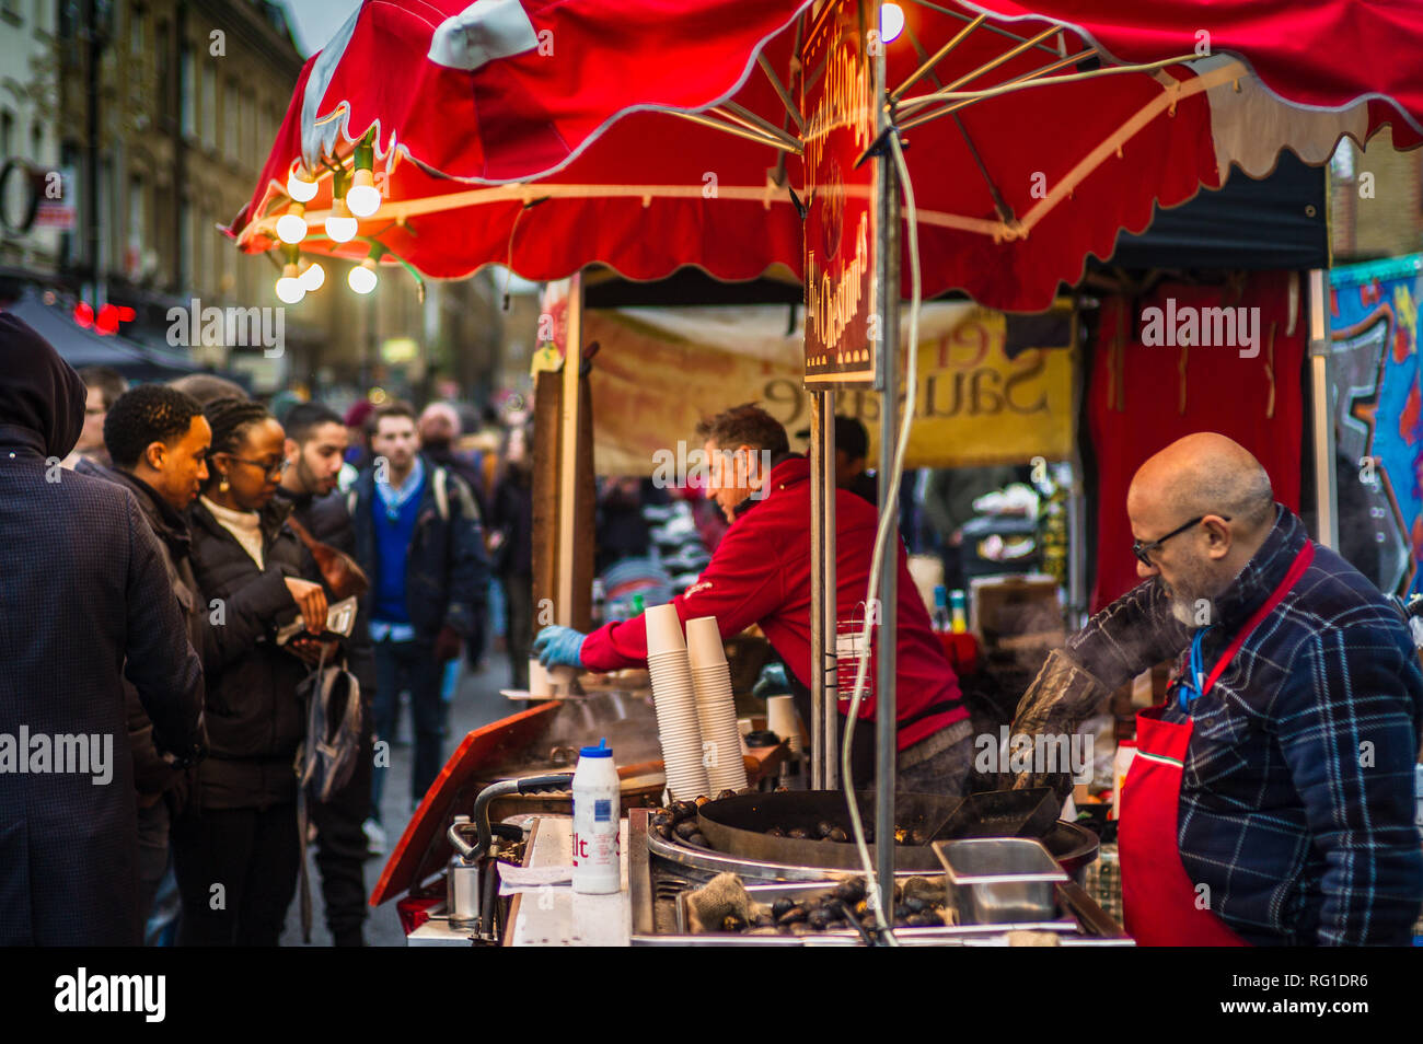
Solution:
[{"label": "bald man with grey beard, glasses, plaid shirt and red apron", "polygon": [[[1052,653],[1015,720],[1072,733],[1177,661],[1165,703],[1137,717],[1121,788],[1127,930],[1161,946],[1406,946],[1423,905],[1423,676],[1400,614],[1224,435],[1143,464],[1127,515],[1143,583]],[[1043,782],[1066,791],[1040,771],[1013,785]]]}]

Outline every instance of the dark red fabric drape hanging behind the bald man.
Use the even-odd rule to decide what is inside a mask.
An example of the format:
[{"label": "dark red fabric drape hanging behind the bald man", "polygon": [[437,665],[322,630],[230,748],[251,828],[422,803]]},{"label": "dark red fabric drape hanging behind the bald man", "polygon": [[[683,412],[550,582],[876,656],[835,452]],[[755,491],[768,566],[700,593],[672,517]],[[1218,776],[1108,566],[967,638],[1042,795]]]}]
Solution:
[{"label": "dark red fabric drape hanging behind the bald man", "polygon": [[[1148,457],[1183,435],[1218,431],[1234,438],[1269,472],[1275,499],[1299,509],[1306,321],[1301,293],[1289,333],[1289,279],[1288,272],[1249,273],[1239,297],[1232,289],[1161,283],[1143,299],[1103,302],[1087,400],[1099,469],[1093,612],[1140,582],[1127,486]],[[1178,317],[1183,309],[1259,309],[1259,354],[1242,358],[1237,347],[1143,344],[1143,313],[1161,309],[1164,323],[1168,299],[1175,300]]]}]

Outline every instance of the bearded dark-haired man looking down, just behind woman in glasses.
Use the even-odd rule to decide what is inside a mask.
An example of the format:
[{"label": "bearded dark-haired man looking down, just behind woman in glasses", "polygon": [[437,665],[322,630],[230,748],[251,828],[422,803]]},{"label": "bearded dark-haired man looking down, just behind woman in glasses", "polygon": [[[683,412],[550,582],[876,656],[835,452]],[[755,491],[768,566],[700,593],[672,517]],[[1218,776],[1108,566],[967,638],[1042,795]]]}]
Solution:
[{"label": "bearded dark-haired man looking down, just behind woman in glasses", "polygon": [[[356,555],[356,535],[346,512],[346,498],[336,492],[349,437],[342,418],[320,403],[302,403],[286,415],[286,471],[276,495],[292,505],[287,522],[295,521],[320,543],[346,555]],[[324,583],[314,559],[306,556],[307,580]],[[327,589],[327,600],[332,592]],[[370,772],[373,762],[371,698],[376,694],[376,660],[370,644],[370,626],[357,613],[356,627],[344,644],[346,667],[360,683],[361,755],[351,778],[330,801],[312,801],[316,825],[316,868],[322,873],[322,899],[326,927],[336,946],[364,946],[366,833],[361,824],[370,811]]]}]

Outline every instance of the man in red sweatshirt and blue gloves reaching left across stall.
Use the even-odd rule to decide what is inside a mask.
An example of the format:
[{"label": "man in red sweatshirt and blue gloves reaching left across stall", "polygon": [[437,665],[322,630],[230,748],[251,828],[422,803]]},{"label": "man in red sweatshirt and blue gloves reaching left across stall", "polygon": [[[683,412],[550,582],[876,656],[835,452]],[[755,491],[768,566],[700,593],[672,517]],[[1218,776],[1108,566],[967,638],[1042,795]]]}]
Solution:
[{"label": "man in red sweatshirt and blue gloves reaching left across stall", "polygon": [[[683,623],[714,616],[721,637],[758,624],[785,661],[801,717],[810,721],[810,462],[790,452],[785,430],[760,407],[727,410],[697,428],[712,475],[707,496],[731,523],[716,555],[684,595],[673,600]],[[845,489],[835,491],[837,619],[864,619],[869,558],[878,515]],[[898,788],[961,794],[972,762],[968,708],[953,669],[929,626],[929,614],[909,577],[904,543],[895,542],[898,606]],[[546,664],[618,670],[645,663],[647,630],[642,616],[609,623],[592,634],[545,627],[534,651]],[[871,661],[869,678],[875,678]],[[841,714],[850,693],[842,694]],[[861,703],[872,720],[875,700]],[[844,717],[841,718],[844,734]],[[851,758],[857,785],[874,781],[874,728],[855,730]]]}]

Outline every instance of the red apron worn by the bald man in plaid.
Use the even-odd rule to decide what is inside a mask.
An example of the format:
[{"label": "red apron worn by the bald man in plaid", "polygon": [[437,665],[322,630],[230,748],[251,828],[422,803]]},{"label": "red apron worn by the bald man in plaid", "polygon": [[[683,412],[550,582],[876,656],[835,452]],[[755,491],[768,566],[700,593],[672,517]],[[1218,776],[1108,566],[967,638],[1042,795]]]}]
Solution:
[{"label": "red apron worn by the bald man in plaid", "polygon": [[[1313,543],[1305,542],[1279,586],[1245,622],[1200,686],[1201,696],[1211,691],[1249,633],[1285,599],[1313,558]],[[1161,721],[1164,710],[1165,704],[1137,714],[1137,757],[1121,785],[1117,846],[1127,934],[1140,946],[1248,946],[1211,909],[1201,909],[1207,905],[1181,863],[1177,826],[1192,723]]]}]

